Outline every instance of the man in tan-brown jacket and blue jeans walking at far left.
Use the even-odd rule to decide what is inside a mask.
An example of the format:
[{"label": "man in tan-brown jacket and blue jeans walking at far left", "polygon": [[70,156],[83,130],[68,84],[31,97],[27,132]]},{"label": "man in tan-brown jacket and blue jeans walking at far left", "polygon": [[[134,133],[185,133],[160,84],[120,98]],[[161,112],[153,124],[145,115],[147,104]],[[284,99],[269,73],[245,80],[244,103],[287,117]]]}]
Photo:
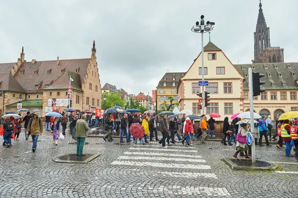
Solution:
[{"label": "man in tan-brown jacket and blue jeans walking at far left", "polygon": [[35,152],[37,146],[37,139],[39,135],[42,135],[43,125],[41,119],[38,118],[36,113],[33,114],[33,117],[29,120],[27,126],[27,134],[32,137],[33,145],[32,152]]}]

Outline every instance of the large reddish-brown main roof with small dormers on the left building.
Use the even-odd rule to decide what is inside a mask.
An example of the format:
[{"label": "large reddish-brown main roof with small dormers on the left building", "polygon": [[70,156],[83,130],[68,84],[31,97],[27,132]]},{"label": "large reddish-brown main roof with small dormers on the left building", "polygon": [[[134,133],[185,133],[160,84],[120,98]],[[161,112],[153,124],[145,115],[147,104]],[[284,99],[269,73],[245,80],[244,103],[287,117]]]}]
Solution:
[{"label": "large reddish-brown main roof with small dormers on the left building", "polygon": [[[78,73],[80,80],[84,79],[87,73],[87,68],[90,62],[88,59],[70,59],[70,60],[59,60],[59,65],[57,65],[57,60],[54,61],[36,61],[35,63],[25,62],[22,63],[18,71],[16,72],[14,78],[22,85],[22,87],[27,89],[27,92],[42,92],[41,89],[49,85],[53,80],[57,79],[61,74],[61,70],[69,70],[75,72],[75,69],[79,70]],[[34,71],[38,70],[36,74]],[[50,71],[47,73],[47,71]],[[40,82],[42,83],[40,84]],[[66,85],[69,81],[62,82]],[[40,84],[38,89],[35,89],[35,85]]]}]

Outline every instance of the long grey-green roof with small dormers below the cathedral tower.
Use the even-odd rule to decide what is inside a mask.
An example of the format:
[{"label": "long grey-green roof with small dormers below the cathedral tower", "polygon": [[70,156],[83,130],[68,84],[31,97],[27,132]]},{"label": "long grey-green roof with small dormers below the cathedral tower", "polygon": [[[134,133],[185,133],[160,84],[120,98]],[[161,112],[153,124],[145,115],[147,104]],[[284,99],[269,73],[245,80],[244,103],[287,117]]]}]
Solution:
[{"label": "long grey-green roof with small dormers below the cathedral tower", "polygon": [[[240,64],[234,66],[246,79],[243,83],[244,90],[248,90],[249,67],[253,68],[252,72],[265,74],[264,77],[260,78],[260,81],[265,82],[265,84],[262,85],[263,89],[298,89],[298,63]],[[271,74],[271,76],[268,76],[268,74]],[[273,86],[273,84],[275,84],[275,86]]]}]

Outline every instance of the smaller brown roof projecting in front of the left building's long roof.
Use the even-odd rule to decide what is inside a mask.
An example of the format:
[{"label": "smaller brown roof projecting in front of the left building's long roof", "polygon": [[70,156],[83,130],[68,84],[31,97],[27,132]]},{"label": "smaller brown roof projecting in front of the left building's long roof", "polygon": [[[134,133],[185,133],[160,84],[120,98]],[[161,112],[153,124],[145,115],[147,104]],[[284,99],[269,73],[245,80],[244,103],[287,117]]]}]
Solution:
[{"label": "smaller brown roof projecting in front of the left building's long roof", "polygon": [[63,72],[50,86],[43,88],[43,90],[53,89],[68,89],[70,77],[74,80],[71,81],[72,89],[77,91],[83,91],[81,87],[80,75],[72,71]]}]

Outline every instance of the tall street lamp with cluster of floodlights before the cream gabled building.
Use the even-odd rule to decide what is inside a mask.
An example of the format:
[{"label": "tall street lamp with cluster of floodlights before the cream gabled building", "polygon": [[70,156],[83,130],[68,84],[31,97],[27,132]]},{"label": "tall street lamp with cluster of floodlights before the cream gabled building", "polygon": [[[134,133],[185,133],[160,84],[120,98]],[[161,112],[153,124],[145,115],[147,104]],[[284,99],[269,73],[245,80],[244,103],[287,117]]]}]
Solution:
[{"label": "tall street lamp with cluster of floodlights before the cream gabled building", "polygon": [[[207,21],[205,25],[204,21],[204,15],[201,15],[201,21],[197,21],[196,25],[194,25],[191,28],[191,31],[195,33],[201,33],[202,35],[202,81],[204,81],[204,33],[210,32],[213,30],[213,25],[215,25],[215,22],[210,22]],[[203,114],[205,115],[205,94],[204,94],[204,86],[202,86],[202,96],[203,96],[203,103],[202,103],[202,109],[203,109]]]}]

